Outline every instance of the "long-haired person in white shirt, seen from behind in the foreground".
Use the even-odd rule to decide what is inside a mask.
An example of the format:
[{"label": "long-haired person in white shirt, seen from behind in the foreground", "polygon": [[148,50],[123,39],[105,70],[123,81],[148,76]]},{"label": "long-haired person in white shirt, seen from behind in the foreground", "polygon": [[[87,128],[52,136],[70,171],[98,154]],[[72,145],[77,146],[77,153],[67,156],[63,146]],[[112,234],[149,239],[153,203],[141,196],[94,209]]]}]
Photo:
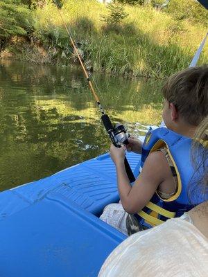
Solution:
[{"label": "long-haired person in white shirt, seen from behind in the foreground", "polygon": [[[194,192],[198,194],[200,188],[208,200],[208,117],[196,133],[191,156],[196,170],[194,176],[200,169],[200,179],[196,179]],[[199,156],[202,157],[200,165]],[[167,220],[152,230],[136,233],[124,240],[105,260],[98,277],[205,277],[207,259],[208,201],[182,217]]]}]

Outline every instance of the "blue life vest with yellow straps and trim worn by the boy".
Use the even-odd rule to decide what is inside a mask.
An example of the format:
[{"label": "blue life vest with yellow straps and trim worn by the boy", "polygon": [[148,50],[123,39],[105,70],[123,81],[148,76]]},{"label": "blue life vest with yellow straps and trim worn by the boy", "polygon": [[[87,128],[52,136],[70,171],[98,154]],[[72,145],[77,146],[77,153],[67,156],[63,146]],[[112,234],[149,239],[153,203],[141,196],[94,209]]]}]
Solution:
[{"label": "blue life vest with yellow straps and trim worn by the boy", "polygon": [[[200,204],[203,199],[199,193],[196,199],[189,201],[188,186],[191,186],[193,167],[191,165],[191,139],[177,134],[165,127],[151,129],[144,140],[140,168],[150,152],[166,146],[168,154],[173,161],[177,174],[178,187],[174,195],[168,199],[162,199],[157,194],[153,195],[150,202],[135,215],[139,224],[146,228],[162,224],[171,217],[180,217],[184,212],[193,208],[193,204]],[[152,169],[154,170],[154,169]]]}]

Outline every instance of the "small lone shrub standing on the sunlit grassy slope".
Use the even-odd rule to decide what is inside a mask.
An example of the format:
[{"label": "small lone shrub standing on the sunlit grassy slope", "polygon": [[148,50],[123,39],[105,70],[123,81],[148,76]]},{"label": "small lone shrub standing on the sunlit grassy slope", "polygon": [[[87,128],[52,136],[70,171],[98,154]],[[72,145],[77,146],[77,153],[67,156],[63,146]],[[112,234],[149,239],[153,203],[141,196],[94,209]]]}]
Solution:
[{"label": "small lone shrub standing on the sunlit grassy slope", "polygon": [[106,24],[119,24],[121,20],[128,17],[128,13],[125,12],[123,6],[110,3],[107,5],[109,13],[107,16],[103,16],[103,21]]}]

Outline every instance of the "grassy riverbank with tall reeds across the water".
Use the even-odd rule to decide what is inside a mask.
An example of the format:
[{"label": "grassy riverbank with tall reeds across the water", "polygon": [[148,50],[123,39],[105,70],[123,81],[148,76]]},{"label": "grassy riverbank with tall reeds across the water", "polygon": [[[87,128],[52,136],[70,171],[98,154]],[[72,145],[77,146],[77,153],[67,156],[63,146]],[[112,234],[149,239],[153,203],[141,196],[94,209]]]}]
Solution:
[{"label": "grassy riverbank with tall reeds across the water", "polygon": [[[119,24],[102,21],[109,10],[97,1],[66,1],[62,15],[87,67],[119,75],[164,78],[186,68],[207,30],[202,24],[177,20],[151,6],[123,6],[128,16]],[[37,64],[76,64],[77,58],[60,21],[48,4],[31,10],[30,35],[12,37],[1,57]],[[199,64],[208,61],[208,48]]]}]

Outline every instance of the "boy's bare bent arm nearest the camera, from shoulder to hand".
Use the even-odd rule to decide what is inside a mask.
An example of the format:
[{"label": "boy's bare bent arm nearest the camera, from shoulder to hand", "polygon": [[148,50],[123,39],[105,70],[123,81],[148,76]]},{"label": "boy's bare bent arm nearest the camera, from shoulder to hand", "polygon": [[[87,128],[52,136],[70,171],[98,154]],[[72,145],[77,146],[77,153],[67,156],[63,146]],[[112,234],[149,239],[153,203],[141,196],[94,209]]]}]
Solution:
[{"label": "boy's bare bent arm nearest the camera, from shoulder to hand", "polygon": [[125,148],[115,148],[112,145],[110,154],[116,165],[121,204],[127,213],[141,211],[153,197],[157,187],[172,177],[164,154],[160,151],[152,152],[148,155],[134,186],[131,186],[124,166]]}]

